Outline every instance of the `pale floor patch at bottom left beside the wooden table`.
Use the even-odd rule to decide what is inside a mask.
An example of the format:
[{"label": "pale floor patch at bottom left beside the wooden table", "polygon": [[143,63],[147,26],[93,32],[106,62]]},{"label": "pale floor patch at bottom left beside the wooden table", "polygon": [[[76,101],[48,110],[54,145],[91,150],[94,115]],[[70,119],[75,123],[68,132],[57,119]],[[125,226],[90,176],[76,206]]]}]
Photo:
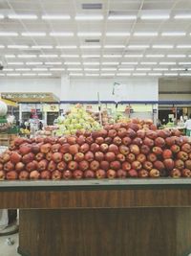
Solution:
[{"label": "pale floor patch at bottom left beside the wooden table", "polygon": [[[8,239],[11,238],[11,241],[14,242],[14,244],[9,245],[8,244]],[[11,235],[11,236],[3,236],[0,237],[0,255],[2,256],[17,256],[20,255],[18,254],[17,251],[18,247],[18,233]]]}]

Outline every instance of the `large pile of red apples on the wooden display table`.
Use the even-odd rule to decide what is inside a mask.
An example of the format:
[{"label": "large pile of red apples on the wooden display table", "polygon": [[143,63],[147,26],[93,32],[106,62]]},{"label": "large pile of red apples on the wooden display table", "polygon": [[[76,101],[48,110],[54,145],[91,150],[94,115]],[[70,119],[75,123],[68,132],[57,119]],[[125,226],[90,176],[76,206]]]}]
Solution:
[{"label": "large pile of red apples on the wooden display table", "polygon": [[191,143],[179,130],[107,125],[63,137],[18,137],[0,155],[0,179],[191,177]]}]

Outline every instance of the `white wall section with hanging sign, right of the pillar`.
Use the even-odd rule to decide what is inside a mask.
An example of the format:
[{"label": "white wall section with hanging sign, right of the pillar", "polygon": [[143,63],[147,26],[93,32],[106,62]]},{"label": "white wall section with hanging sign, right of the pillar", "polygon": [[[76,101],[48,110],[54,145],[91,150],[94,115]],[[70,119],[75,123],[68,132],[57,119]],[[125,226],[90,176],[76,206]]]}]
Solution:
[{"label": "white wall section with hanging sign, right of the pillar", "polygon": [[[112,94],[114,82],[122,85]],[[70,85],[62,79],[62,101],[158,101],[158,79],[71,79]]]}]

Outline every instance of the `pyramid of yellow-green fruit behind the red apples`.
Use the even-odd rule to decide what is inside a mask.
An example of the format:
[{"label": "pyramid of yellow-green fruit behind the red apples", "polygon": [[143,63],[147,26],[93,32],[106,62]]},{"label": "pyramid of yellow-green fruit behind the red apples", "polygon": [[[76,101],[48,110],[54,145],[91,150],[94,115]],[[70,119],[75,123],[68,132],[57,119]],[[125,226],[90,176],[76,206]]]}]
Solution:
[{"label": "pyramid of yellow-green fruit behind the red apples", "polygon": [[81,105],[75,105],[66,115],[66,118],[58,118],[56,135],[74,134],[77,130],[96,130],[100,125]]}]

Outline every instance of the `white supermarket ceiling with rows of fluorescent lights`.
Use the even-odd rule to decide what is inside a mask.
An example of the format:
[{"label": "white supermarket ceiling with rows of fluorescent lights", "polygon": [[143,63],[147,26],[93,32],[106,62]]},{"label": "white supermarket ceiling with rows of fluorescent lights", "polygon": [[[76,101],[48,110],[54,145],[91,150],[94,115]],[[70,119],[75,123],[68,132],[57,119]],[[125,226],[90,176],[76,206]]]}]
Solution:
[{"label": "white supermarket ceiling with rows of fluorescent lights", "polygon": [[189,77],[190,0],[0,0],[1,77]]}]

